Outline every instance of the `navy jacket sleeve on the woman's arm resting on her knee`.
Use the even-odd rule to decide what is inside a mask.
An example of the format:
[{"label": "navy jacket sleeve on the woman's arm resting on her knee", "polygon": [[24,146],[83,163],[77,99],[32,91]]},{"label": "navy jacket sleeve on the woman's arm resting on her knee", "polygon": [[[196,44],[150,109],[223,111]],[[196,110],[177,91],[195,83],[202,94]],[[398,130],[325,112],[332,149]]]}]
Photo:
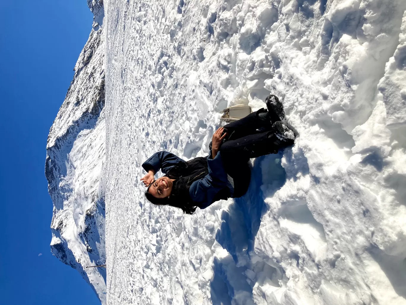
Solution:
[{"label": "navy jacket sleeve on the woman's arm resting on her knee", "polygon": [[201,209],[205,209],[213,203],[216,194],[227,187],[228,181],[220,152],[214,159],[211,158],[211,155],[208,156],[207,165],[209,173],[202,179],[194,181],[189,189],[190,198]]}]

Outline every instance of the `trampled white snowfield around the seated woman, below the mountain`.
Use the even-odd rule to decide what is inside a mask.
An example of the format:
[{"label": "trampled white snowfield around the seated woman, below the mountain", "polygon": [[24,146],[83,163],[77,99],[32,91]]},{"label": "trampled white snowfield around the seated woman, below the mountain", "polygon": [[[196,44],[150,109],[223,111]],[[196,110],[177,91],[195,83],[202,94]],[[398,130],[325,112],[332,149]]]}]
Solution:
[{"label": "trampled white snowfield around the seated woman, below the mountain", "polygon": [[[406,1],[109,0],[108,304],[406,304]],[[285,106],[292,148],[192,216],[148,203],[158,150]]]}]

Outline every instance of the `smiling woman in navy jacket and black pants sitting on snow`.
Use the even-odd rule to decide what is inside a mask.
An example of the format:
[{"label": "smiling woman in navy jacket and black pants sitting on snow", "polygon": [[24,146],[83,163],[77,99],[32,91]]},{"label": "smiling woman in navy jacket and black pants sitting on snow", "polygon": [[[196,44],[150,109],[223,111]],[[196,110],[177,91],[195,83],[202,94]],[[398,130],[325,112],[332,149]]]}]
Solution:
[{"label": "smiling woman in navy jacket and black pants sitting on snow", "polygon": [[[186,214],[196,207],[243,196],[248,190],[250,158],[277,153],[293,145],[294,134],[281,122],[285,117],[279,99],[270,95],[266,106],[245,118],[220,127],[210,143],[211,154],[184,161],[160,151],[143,163],[148,173],[140,180],[148,187],[145,196],[155,205],[170,205]],[[165,176],[154,179],[161,170]]]}]

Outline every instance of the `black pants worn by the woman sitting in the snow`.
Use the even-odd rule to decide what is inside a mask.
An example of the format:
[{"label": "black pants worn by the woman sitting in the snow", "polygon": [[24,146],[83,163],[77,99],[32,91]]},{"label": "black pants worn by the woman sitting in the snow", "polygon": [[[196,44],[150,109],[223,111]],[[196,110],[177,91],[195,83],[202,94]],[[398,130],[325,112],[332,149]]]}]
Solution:
[{"label": "black pants worn by the woman sitting in the snow", "polygon": [[263,111],[260,109],[224,126],[228,136],[220,146],[220,153],[227,174],[234,180],[233,197],[241,197],[248,190],[251,180],[248,160],[278,151],[270,140],[274,133],[270,122],[258,117]]}]

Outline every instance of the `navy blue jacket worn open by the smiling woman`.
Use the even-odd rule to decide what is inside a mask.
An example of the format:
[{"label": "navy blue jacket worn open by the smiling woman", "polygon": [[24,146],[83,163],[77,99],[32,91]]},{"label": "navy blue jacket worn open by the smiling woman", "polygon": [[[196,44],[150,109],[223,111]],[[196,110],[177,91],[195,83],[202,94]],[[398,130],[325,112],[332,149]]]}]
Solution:
[{"label": "navy blue jacket worn open by the smiling woman", "polygon": [[[215,201],[219,200],[218,193],[225,188],[228,194],[232,194],[233,188],[229,183],[229,176],[227,175],[220,152],[212,159],[209,155],[207,159],[207,170],[204,171],[205,176],[194,181],[189,188],[189,195],[195,206],[205,209]],[[143,168],[148,172],[153,170],[155,173],[161,170],[167,174],[171,168],[179,162],[186,162],[172,153],[160,151],[153,154],[147,161],[143,163]],[[203,172],[202,172],[203,173]],[[197,177],[197,176],[195,176]],[[222,192],[224,194],[224,192]],[[227,199],[227,198],[221,198]]]}]

